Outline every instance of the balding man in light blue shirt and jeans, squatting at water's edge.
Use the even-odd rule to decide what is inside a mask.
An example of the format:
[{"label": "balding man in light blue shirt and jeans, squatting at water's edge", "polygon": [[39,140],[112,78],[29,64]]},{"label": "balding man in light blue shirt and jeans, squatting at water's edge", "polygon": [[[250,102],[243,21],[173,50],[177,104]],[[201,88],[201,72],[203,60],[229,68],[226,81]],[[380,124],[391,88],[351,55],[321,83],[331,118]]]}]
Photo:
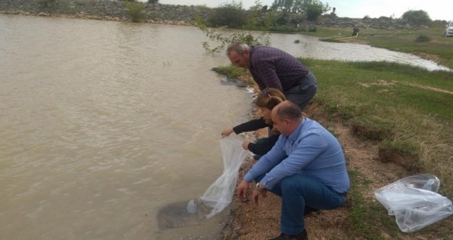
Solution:
[{"label": "balding man in light blue shirt and jeans, squatting at water's edge", "polygon": [[296,104],[283,101],[271,115],[279,140],[246,173],[237,197],[246,199],[248,184],[255,180],[256,204],[266,191],[281,197],[281,235],[274,239],[307,239],[304,213],[345,203],[350,187],[345,156],[338,140],[316,121],[303,118]]}]

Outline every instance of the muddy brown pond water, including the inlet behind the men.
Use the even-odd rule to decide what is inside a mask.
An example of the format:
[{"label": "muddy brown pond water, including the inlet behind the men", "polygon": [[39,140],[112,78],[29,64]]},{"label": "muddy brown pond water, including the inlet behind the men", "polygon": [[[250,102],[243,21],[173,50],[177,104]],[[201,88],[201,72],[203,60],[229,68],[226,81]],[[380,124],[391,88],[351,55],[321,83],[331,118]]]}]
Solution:
[{"label": "muddy brown pond water, including the inlet behind the men", "polygon": [[[271,37],[318,54],[314,38]],[[220,131],[252,103],[210,71],[229,62],[204,40],[194,27],[0,15],[0,239],[215,238],[227,212],[156,221],[220,176]]]}]

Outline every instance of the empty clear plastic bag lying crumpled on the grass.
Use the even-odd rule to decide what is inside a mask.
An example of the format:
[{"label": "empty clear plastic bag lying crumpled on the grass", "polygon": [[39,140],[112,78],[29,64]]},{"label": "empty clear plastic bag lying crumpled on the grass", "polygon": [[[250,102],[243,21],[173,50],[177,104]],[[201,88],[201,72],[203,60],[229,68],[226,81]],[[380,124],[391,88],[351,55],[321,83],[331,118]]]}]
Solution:
[{"label": "empty clear plastic bag lying crumpled on the grass", "polygon": [[452,201],[438,194],[436,176],[420,174],[393,182],[375,191],[376,199],[395,215],[403,232],[415,232],[453,213]]}]

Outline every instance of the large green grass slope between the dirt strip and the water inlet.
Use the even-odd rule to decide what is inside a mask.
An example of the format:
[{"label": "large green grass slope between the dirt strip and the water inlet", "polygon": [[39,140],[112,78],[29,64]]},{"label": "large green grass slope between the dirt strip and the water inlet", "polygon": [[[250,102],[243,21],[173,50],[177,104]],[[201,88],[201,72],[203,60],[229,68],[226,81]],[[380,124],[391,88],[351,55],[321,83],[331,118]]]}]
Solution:
[{"label": "large green grass slope between the dirt strip and the water inlet", "polygon": [[388,62],[301,61],[316,75],[315,101],[327,112],[386,148],[416,154],[416,165],[453,196],[453,73]]}]

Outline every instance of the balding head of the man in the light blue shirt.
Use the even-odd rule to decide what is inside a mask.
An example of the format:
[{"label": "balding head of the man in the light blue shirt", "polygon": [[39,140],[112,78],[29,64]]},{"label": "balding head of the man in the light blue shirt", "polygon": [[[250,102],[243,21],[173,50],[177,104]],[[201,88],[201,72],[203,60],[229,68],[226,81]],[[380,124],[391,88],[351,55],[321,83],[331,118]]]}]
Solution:
[{"label": "balding head of the man in the light blue shirt", "polygon": [[302,111],[291,101],[283,101],[272,109],[272,122],[284,136],[290,136],[302,121]]}]

